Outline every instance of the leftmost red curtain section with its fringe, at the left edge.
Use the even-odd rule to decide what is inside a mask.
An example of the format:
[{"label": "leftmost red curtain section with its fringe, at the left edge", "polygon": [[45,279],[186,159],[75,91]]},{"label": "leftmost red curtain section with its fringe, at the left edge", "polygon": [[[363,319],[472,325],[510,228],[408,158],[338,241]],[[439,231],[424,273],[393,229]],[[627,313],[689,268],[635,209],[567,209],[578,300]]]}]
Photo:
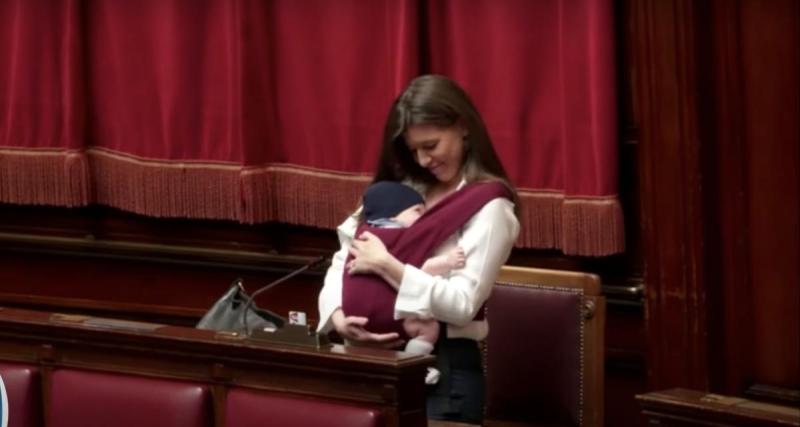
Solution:
[{"label": "leftmost red curtain section with its fringe, at the left edge", "polygon": [[0,202],[90,202],[77,0],[0,1]]}]

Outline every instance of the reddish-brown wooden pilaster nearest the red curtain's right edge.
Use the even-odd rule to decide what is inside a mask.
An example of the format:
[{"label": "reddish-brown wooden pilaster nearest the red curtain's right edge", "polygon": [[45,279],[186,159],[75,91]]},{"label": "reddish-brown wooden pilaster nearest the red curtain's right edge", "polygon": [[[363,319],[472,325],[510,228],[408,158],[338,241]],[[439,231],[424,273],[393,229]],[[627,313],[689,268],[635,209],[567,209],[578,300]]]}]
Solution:
[{"label": "reddish-brown wooden pilaster nearest the red curtain's right edge", "polygon": [[655,388],[707,386],[694,3],[628,4],[640,131],[648,377]]}]

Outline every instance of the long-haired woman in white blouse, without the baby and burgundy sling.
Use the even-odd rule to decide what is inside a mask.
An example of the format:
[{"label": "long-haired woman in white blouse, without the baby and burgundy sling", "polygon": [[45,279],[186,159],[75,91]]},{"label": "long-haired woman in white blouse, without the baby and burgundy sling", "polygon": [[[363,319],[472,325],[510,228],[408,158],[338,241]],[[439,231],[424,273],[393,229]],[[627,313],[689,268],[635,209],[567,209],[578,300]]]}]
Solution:
[{"label": "long-haired woman in white blouse, without the baby and burgundy sling", "polygon": [[[414,79],[392,105],[374,182],[404,181],[432,207],[464,185],[499,181],[513,188],[492,147],[486,127],[467,94],[442,76]],[[480,423],[483,371],[477,342],[488,333],[475,320],[489,297],[500,266],[519,233],[514,203],[495,198],[445,241],[436,255],[464,249],[464,268],[449,276],[431,276],[394,258],[383,243],[365,232],[355,236],[360,212],[337,231],[342,248],[334,255],[319,295],[320,332],[335,329],[351,344],[395,347],[396,333],[369,332],[365,318],[341,310],[342,273],[374,273],[399,284],[395,317],[433,317],[445,323],[437,343],[439,383],[428,396],[428,417]],[[347,255],[353,259],[345,266]]]}]

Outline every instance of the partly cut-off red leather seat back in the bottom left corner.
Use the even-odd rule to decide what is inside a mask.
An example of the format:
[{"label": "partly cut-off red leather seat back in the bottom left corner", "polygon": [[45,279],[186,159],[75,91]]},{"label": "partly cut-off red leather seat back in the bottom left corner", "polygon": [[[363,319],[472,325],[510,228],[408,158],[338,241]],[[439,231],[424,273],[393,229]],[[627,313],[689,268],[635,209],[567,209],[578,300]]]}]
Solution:
[{"label": "partly cut-off red leather seat back in the bottom left corner", "polygon": [[0,377],[8,393],[8,427],[42,425],[39,369],[35,366],[0,363]]}]

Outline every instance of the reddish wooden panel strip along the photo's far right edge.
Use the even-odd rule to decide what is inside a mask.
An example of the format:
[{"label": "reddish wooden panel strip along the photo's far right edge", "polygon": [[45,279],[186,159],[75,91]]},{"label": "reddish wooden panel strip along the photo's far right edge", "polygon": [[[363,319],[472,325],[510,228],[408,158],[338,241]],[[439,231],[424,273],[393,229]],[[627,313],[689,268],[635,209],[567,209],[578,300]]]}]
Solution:
[{"label": "reddish wooden panel strip along the photo's far right edge", "polygon": [[748,0],[740,14],[752,378],[800,388],[800,3]]}]

